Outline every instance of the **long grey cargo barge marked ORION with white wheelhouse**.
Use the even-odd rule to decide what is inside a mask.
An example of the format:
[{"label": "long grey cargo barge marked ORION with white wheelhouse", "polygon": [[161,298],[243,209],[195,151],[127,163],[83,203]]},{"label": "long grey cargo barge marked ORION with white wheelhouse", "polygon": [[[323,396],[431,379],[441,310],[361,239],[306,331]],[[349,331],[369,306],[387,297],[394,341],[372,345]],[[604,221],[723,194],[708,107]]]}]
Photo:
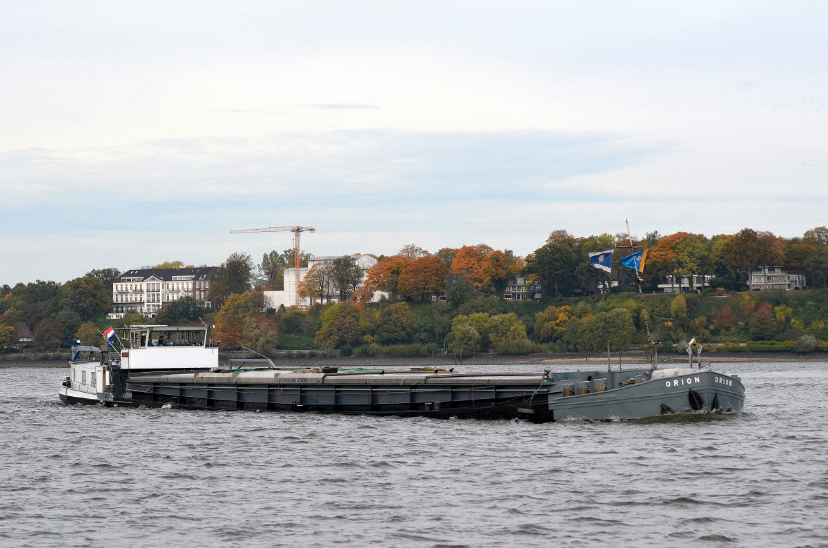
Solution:
[{"label": "long grey cargo barge marked ORION with white wheelhouse", "polygon": [[[181,344],[158,344],[161,334]],[[736,375],[707,368],[457,373],[439,368],[279,368],[268,358],[218,366],[209,328],[135,326],[120,351],[77,346],[65,403],[458,419],[609,421],[739,412]],[[175,357],[164,352],[181,353]],[[94,350],[98,350],[97,356]],[[81,357],[81,354],[90,354]],[[172,367],[174,366],[174,367]],[[541,369],[542,366],[537,366]]]}]

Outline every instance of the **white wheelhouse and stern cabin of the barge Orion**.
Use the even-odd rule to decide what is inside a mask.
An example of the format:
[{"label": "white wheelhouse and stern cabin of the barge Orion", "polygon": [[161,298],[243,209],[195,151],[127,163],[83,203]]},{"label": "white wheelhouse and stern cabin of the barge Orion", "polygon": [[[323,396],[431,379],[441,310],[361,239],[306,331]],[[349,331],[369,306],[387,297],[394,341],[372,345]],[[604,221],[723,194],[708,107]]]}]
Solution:
[{"label": "white wheelhouse and stern cabin of the barge Orion", "polygon": [[[112,328],[107,345],[85,346],[73,341],[70,374],[58,397],[66,404],[130,403],[125,397],[131,373],[147,371],[209,371],[219,367],[219,349],[208,325],[131,325]],[[120,349],[115,348],[117,344]]]}]

